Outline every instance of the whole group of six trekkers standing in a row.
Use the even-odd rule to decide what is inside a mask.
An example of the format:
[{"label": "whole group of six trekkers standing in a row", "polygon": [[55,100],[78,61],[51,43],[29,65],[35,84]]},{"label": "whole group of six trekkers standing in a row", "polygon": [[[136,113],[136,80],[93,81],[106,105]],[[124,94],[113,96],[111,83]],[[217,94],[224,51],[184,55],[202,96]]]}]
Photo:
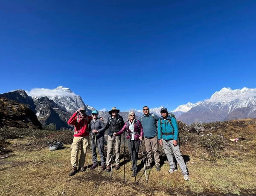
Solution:
[{"label": "whole group of six trekkers standing in a row", "polygon": [[[145,150],[146,150],[146,164],[144,162],[144,170],[151,169],[154,165],[157,171],[161,170],[160,158],[159,158],[159,144],[163,145],[163,149],[166,153],[169,161],[169,173],[177,171],[177,167],[174,161],[174,157],[180,166],[184,180],[189,180],[189,173],[185,164],[185,161],[180,153],[180,147],[178,145],[178,125],[174,115],[169,114],[166,108],[160,110],[161,117],[149,112],[147,106],[143,107],[144,115],[140,120],[136,119],[134,112],[129,112],[128,120],[125,122],[121,115],[120,110],[113,107],[109,114],[107,124],[103,123],[103,118],[98,117],[98,111],[94,110],[90,115],[86,114],[86,108],[81,107],[77,110],[72,117],[68,120],[68,124],[74,126],[74,138],[71,150],[71,164],[72,170],[69,176],[75,175],[78,171],[85,171],[85,156],[87,146],[90,145],[92,152],[93,165],[90,170],[94,170],[96,167],[99,169],[99,162],[97,159],[97,149],[101,158],[101,170],[111,172],[112,167],[116,170],[120,169],[120,148],[121,148],[121,135],[127,132],[128,150],[131,154],[133,171],[132,176],[135,177],[138,173],[137,159],[140,146],[142,147],[142,141],[144,137]],[[108,150],[107,156],[105,156],[104,144],[105,144],[105,130],[108,129]],[[125,135],[123,135],[125,137]],[[124,141],[125,142],[125,141]],[[81,147],[81,155],[79,155],[79,149]],[[115,148],[116,158],[115,164],[113,164],[113,148]],[[106,157],[106,158],[105,158]],[[144,157],[143,157],[144,161]],[[89,160],[88,160],[89,164]],[[124,173],[125,175],[125,173]],[[146,176],[146,174],[145,174]]]}]

